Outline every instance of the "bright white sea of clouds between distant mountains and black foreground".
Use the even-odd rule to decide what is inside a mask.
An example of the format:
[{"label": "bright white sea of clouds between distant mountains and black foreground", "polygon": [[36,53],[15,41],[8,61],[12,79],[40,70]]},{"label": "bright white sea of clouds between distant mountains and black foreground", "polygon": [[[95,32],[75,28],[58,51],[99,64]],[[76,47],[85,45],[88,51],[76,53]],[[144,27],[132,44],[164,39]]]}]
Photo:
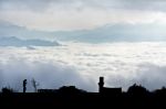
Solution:
[{"label": "bright white sea of clouds between distant mountains and black foreground", "polygon": [[28,79],[28,91],[38,88],[76,86],[97,91],[98,77],[105,86],[123,87],[142,84],[149,90],[166,86],[166,43],[64,43],[53,47],[0,47],[0,88],[22,91]]}]

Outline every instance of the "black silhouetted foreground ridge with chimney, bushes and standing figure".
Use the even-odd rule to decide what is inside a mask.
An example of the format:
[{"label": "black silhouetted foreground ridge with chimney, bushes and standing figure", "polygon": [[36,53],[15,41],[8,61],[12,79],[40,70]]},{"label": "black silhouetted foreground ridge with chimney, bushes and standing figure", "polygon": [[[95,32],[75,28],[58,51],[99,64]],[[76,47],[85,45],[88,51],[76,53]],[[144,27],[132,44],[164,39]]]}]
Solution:
[{"label": "black silhouetted foreground ridge with chimney, bushes and standing figure", "polygon": [[[0,94],[1,107],[12,108],[160,108],[166,106],[166,88],[148,91],[134,84],[127,91],[122,88],[104,87],[104,77],[100,77],[98,92],[87,92],[74,86],[60,89],[38,89],[25,92],[27,79],[23,80],[24,92],[12,92],[3,88]],[[35,86],[35,85],[34,85]]]}]

